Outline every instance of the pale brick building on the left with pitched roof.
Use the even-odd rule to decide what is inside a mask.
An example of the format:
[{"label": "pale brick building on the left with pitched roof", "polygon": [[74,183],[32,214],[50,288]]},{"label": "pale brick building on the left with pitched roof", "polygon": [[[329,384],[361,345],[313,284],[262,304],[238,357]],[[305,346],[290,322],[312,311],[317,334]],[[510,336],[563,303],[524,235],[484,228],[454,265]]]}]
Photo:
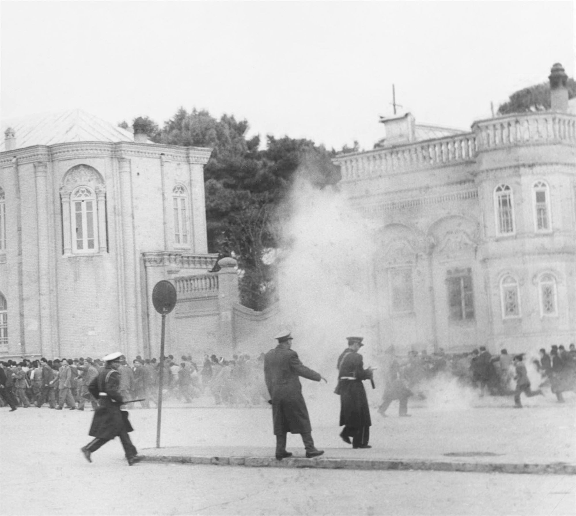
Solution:
[{"label": "pale brick building on the left with pitched roof", "polygon": [[211,150],[156,145],[78,110],[2,132],[0,356],[157,356],[154,284],[214,265]]}]

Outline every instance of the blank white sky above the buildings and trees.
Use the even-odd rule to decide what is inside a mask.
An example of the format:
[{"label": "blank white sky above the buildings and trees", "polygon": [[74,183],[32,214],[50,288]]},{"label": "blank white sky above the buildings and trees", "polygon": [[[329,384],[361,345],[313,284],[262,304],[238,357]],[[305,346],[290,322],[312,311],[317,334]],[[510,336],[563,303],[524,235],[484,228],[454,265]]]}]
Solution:
[{"label": "blank white sky above the buildings and trees", "polygon": [[468,128],[575,67],[573,2],[2,0],[0,16],[0,119],[196,107],[336,149],[382,136],[392,84],[417,122]]}]

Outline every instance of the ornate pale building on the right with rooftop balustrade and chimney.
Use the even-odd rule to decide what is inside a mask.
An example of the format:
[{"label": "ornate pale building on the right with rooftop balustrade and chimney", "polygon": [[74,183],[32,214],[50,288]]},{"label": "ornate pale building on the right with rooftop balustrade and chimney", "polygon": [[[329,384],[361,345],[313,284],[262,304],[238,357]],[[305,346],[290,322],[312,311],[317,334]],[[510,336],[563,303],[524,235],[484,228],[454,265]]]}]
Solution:
[{"label": "ornate pale building on the right with rooftop balustrade and chimney", "polygon": [[405,115],[384,120],[374,150],[335,159],[343,191],[380,226],[381,347],[576,341],[576,113],[560,64],[549,79],[550,111],[426,140]]}]

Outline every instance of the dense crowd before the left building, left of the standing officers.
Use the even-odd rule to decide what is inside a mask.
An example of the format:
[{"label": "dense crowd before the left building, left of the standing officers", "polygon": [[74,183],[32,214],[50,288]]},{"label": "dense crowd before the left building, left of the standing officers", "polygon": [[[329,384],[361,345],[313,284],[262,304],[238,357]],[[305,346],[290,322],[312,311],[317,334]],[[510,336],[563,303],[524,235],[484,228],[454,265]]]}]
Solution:
[{"label": "dense crowd before the left building, left of the standing officers", "polygon": [[[128,365],[121,357],[120,394],[124,400],[138,400],[139,406],[149,408],[150,401],[157,405],[160,382],[160,361],[141,356]],[[88,385],[104,367],[100,359],[90,357],[74,359],[41,358],[21,362],[0,362],[0,407],[28,408],[32,405],[62,410],[83,411],[86,404],[98,407],[97,400],[88,391]],[[266,403],[263,354],[254,360],[247,354],[224,359],[204,355],[201,365],[191,355],[173,355],[164,359],[162,396],[183,403],[209,394],[217,405],[260,405]],[[132,401],[128,407],[137,407]]]}]

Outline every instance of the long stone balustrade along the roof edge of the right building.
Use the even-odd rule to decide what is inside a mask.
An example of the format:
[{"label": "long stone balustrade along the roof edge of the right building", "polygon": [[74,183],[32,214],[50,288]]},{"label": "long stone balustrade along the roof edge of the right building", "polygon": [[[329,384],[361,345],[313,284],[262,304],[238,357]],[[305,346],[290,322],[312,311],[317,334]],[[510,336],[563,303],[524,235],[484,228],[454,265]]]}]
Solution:
[{"label": "long stone balustrade along the roof edge of the right building", "polygon": [[576,116],[544,111],[475,122],[473,132],[334,158],[342,181],[473,162],[479,152],[498,147],[567,143],[576,145]]}]

